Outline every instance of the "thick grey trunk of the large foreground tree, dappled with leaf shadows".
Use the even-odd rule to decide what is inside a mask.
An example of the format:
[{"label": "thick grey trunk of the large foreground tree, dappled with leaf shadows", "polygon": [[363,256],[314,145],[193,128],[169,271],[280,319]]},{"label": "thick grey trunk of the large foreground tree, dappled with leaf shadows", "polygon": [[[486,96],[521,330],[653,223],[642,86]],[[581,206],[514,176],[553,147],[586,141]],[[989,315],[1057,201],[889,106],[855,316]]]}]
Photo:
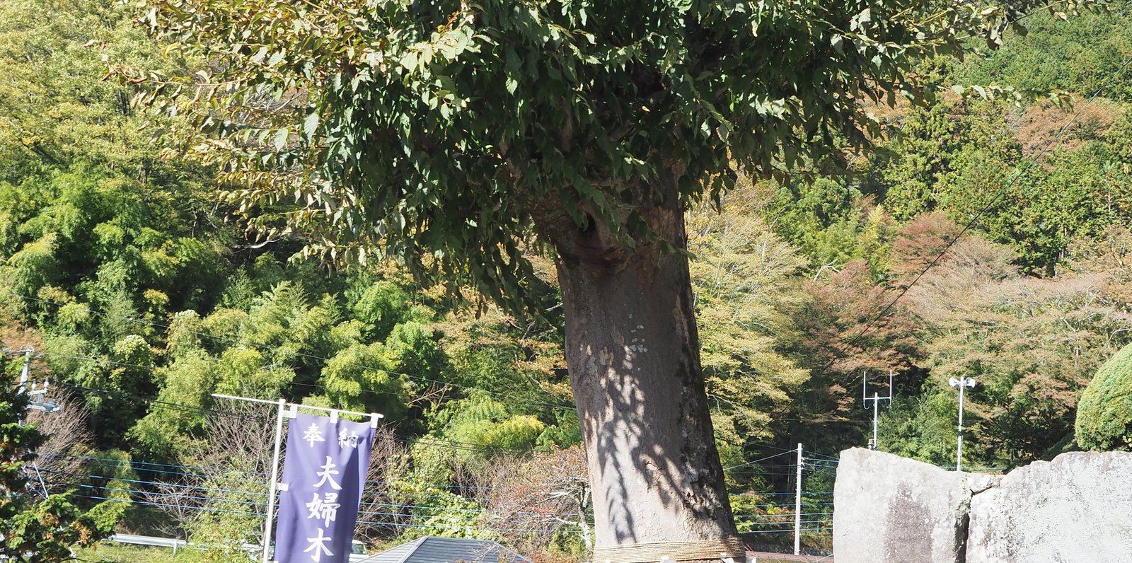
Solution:
[{"label": "thick grey trunk of the large foreground tree, dappled with leaf shadows", "polygon": [[[685,248],[684,214],[669,183],[644,217]],[[601,228],[544,234],[558,249],[595,547],[737,537],[704,392],[686,257],[657,244],[625,248]]]}]

